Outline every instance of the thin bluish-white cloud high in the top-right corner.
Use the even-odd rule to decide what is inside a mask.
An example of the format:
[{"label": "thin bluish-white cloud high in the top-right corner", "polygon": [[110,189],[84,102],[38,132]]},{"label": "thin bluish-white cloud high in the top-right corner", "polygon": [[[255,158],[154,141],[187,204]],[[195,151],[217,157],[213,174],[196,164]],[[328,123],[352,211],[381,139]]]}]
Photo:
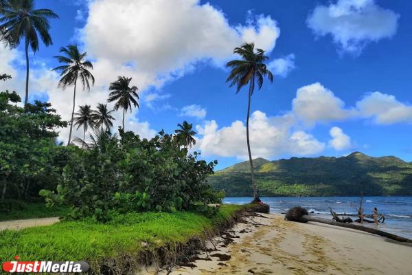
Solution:
[{"label": "thin bluish-white cloud high in the top-right corner", "polygon": [[358,54],[367,43],[396,34],[399,17],[374,0],[338,0],[314,8],[307,24],[318,36],[330,34],[341,50]]}]

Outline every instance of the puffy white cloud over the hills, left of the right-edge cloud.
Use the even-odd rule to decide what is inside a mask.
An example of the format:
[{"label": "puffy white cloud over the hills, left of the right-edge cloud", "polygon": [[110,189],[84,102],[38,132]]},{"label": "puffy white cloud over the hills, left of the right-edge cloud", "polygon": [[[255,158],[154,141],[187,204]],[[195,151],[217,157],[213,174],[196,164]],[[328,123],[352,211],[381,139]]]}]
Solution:
[{"label": "puffy white cloud over the hills, left of the right-edge cloud", "polygon": [[350,109],[345,109],[343,100],[320,83],[297,89],[292,105],[293,113],[308,126],[316,122],[345,120],[352,113]]}]

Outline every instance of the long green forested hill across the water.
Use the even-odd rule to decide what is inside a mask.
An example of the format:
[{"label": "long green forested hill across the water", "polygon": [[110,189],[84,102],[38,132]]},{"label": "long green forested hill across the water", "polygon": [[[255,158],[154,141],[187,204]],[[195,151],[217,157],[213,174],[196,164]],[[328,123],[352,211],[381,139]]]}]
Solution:
[{"label": "long green forested hill across the water", "polygon": [[[262,197],[412,195],[412,163],[398,157],[292,157],[253,161]],[[227,197],[250,197],[249,162],[241,162],[209,177],[211,186]]]}]

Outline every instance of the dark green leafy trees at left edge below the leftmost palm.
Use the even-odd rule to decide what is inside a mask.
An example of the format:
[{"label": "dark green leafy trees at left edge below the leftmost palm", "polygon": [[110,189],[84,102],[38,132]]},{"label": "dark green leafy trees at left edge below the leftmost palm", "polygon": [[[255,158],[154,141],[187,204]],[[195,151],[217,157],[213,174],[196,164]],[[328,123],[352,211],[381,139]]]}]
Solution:
[{"label": "dark green leafy trees at left edge below the leftmost palm", "polygon": [[0,93],[0,201],[36,199],[42,188],[56,188],[75,150],[56,145],[55,129],[67,123],[49,103],[19,102],[14,91]]}]

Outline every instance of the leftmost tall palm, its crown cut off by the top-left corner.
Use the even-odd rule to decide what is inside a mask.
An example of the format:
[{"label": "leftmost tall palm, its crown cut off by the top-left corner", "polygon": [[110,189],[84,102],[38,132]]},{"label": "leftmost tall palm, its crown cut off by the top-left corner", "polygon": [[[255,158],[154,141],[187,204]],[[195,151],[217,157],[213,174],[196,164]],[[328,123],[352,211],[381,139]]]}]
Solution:
[{"label": "leftmost tall palm, its crown cut off by the top-left corner", "polygon": [[52,10],[34,10],[34,0],[8,0],[3,1],[0,13],[0,30],[2,40],[10,47],[19,47],[22,39],[25,41],[26,58],[26,85],[25,100],[29,98],[29,46],[33,52],[38,51],[40,36],[41,41],[47,46],[52,45],[52,37],[49,34],[49,19],[57,19],[58,15]]}]

